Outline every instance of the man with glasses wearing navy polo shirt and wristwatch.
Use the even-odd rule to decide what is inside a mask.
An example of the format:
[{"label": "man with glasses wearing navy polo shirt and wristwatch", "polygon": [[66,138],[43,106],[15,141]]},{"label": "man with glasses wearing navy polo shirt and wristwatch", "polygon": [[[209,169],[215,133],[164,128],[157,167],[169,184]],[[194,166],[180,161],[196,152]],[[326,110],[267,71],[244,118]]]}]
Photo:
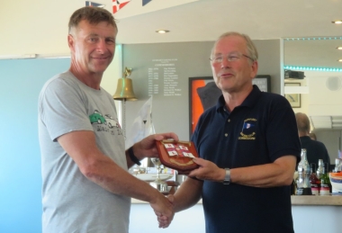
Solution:
[{"label": "man with glasses wearing navy polo shirt and wristwatch", "polygon": [[257,49],[247,35],[228,32],[211,51],[222,95],[203,112],[192,141],[201,158],[169,200],[183,211],[202,198],[207,233],[291,233],[290,184],[301,144],[290,103],[260,92]]}]

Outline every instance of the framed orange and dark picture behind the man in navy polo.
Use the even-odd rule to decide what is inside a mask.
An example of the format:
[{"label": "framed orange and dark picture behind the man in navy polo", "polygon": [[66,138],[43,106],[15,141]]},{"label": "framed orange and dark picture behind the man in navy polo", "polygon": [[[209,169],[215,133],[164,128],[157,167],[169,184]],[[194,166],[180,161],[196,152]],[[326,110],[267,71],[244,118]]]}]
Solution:
[{"label": "framed orange and dark picture behind the man in navy polo", "polygon": [[[271,76],[256,76],[253,85],[262,92],[270,92]],[[220,94],[212,76],[189,77],[189,139],[202,112],[215,105]]]}]

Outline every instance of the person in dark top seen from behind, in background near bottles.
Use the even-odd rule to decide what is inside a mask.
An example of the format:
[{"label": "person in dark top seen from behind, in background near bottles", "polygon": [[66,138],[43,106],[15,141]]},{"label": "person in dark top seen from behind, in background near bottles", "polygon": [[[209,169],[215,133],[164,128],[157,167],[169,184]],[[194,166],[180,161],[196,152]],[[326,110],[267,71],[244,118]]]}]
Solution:
[{"label": "person in dark top seen from behind, in background near bottles", "polygon": [[318,166],[319,159],[323,159],[324,163],[330,166],[330,157],[328,150],[324,144],[318,140],[311,139],[310,137],[310,121],[305,113],[297,112],[296,121],[298,128],[298,135],[301,140],[302,148],[306,148],[308,162]]}]

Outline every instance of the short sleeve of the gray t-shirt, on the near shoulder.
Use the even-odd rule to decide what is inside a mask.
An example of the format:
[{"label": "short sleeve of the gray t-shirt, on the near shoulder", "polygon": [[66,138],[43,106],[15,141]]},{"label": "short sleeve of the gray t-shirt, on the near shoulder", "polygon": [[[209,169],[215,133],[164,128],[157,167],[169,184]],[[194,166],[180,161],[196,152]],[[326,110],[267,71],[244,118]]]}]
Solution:
[{"label": "short sleeve of the gray t-shirt, on the near shoulder", "polygon": [[51,140],[76,130],[93,130],[85,109],[85,94],[72,80],[56,78],[40,94],[40,118]]}]

